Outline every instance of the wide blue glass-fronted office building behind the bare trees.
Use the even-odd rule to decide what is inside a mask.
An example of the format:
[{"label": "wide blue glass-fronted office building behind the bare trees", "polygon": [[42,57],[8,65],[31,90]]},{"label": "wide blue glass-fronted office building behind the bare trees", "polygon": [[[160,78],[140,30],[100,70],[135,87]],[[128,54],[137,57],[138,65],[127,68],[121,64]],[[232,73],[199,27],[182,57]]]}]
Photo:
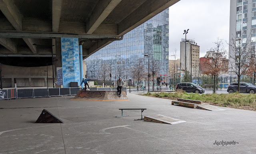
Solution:
[{"label": "wide blue glass-fronted office building behind the bare trees", "polygon": [[[149,58],[144,57],[144,54],[148,54]],[[109,69],[108,73],[111,70],[112,81],[119,76],[129,79],[132,78],[130,68],[136,65],[139,59],[142,59],[145,73],[148,73],[148,60],[151,69],[153,59],[159,66],[156,70],[156,79],[160,75],[162,77],[168,75],[168,57],[169,9],[166,9],[125,34],[122,40],[113,41],[86,58],[86,75],[90,79],[101,79],[100,70],[104,63]],[[152,75],[152,72],[150,74]],[[107,80],[110,80],[109,74]]]}]

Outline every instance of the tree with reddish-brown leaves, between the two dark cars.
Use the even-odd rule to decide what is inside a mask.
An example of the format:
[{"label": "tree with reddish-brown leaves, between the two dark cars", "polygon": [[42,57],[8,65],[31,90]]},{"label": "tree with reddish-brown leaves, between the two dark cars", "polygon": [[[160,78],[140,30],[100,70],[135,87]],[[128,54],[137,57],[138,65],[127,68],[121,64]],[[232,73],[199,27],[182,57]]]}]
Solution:
[{"label": "tree with reddish-brown leaves, between the two dark cars", "polygon": [[214,87],[213,87],[213,93],[215,93],[216,84],[218,84],[218,74],[221,71],[227,71],[224,67],[224,62],[222,61],[222,58],[225,54],[225,49],[223,48],[223,43],[221,39],[217,39],[216,47],[211,48],[210,51],[212,54],[206,55],[206,58],[209,60],[206,60],[203,63],[203,67],[206,68],[206,71],[204,71],[204,74],[206,75],[212,75],[214,77]]}]

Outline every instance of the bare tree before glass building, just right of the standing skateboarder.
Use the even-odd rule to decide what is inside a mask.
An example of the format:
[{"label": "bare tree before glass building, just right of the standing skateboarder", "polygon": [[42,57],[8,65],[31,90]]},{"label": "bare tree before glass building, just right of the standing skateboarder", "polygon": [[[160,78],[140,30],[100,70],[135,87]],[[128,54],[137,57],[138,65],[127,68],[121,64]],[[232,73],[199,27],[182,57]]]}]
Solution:
[{"label": "bare tree before glass building, just right of the standing skateboarder", "polygon": [[134,79],[138,81],[137,85],[139,86],[139,81],[141,79],[144,79],[146,76],[142,58],[138,59],[138,62],[136,63],[136,65],[134,65],[131,68],[131,72],[132,72],[132,75],[134,76]]}]

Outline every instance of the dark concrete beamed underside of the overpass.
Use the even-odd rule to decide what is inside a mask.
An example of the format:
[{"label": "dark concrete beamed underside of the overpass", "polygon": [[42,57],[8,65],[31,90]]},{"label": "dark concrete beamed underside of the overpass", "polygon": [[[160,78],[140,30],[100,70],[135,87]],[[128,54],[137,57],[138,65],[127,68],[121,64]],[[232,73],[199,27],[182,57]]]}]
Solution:
[{"label": "dark concrete beamed underside of the overpass", "polygon": [[0,0],[0,62],[45,66],[53,53],[56,72],[62,66],[60,38],[87,39],[85,59],[178,1]]}]

